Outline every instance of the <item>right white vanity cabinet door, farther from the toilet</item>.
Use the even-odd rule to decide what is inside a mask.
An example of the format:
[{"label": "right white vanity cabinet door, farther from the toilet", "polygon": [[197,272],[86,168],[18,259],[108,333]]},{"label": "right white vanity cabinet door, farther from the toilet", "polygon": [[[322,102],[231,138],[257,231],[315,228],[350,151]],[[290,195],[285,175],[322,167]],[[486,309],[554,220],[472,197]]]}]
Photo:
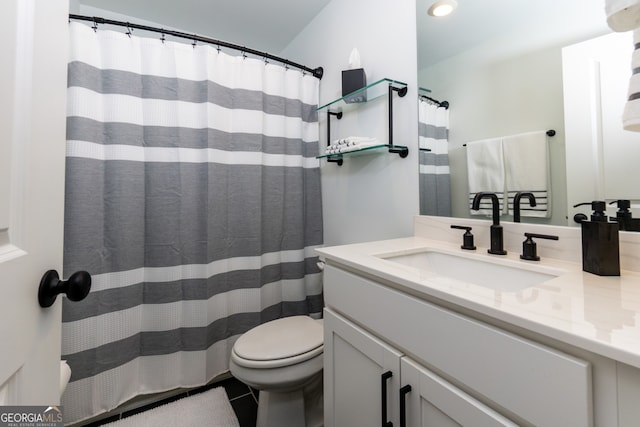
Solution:
[{"label": "right white vanity cabinet door, farther from the toilet", "polygon": [[400,395],[406,404],[407,427],[517,426],[407,357],[401,359],[400,370],[403,388],[411,386]]}]

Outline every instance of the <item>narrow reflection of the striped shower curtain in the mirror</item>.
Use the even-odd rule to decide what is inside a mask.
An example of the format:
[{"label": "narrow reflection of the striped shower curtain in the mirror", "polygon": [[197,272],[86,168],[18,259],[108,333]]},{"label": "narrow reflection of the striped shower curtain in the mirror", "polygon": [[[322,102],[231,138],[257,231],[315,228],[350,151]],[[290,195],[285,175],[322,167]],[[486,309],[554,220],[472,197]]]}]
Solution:
[{"label": "narrow reflection of the striped shower curtain in the mirror", "polygon": [[451,216],[449,110],[424,98],[418,106],[420,215]]}]

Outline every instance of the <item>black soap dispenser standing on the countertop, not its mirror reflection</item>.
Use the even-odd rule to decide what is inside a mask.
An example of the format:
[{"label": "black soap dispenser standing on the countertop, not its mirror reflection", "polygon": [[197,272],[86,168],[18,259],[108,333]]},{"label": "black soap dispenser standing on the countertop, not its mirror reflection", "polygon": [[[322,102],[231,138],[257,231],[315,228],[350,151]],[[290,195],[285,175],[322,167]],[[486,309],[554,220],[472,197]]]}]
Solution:
[{"label": "black soap dispenser standing on the countertop, not its mirror reflection", "polygon": [[582,221],[582,270],[598,276],[620,275],[620,243],[618,223],[609,222],[603,201],[578,203],[574,206],[591,205],[590,221]]}]

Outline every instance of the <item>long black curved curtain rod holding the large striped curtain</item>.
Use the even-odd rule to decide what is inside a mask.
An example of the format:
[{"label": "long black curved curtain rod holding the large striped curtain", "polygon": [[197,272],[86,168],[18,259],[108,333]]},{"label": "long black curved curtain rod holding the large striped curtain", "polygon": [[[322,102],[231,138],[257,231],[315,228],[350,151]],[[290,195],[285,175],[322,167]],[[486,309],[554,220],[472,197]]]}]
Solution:
[{"label": "long black curved curtain rod holding the large striped curtain", "polygon": [[[240,45],[236,45],[236,44],[233,44],[233,43],[225,42],[225,41],[222,41],[222,40],[212,39],[212,38],[209,38],[209,37],[203,37],[203,36],[199,36],[197,34],[188,34],[188,33],[183,33],[183,32],[180,32],[180,31],[165,30],[164,28],[150,27],[150,26],[147,26],[147,25],[134,24],[134,23],[131,23],[131,22],[114,21],[112,19],[105,19],[105,18],[100,18],[100,17],[97,17],[97,16],[84,16],[84,15],[69,14],[69,19],[76,19],[76,20],[79,20],[79,21],[93,22],[96,25],[96,27],[97,27],[98,24],[117,25],[117,26],[120,26],[120,27],[129,28],[129,29],[135,28],[137,30],[152,31],[152,32],[155,32],[155,33],[160,33],[162,35],[181,37],[181,38],[184,38],[184,39],[193,40],[194,42],[199,41],[199,42],[203,42],[203,43],[214,44],[214,45],[217,45],[217,46],[222,46],[222,47],[238,50],[240,52],[249,53],[251,55],[256,55],[256,56],[259,56],[259,57],[262,57],[262,58],[265,58],[265,59],[271,59],[273,61],[281,62],[281,63],[283,63],[285,65],[290,65],[292,67],[298,68],[298,69],[306,71],[308,73],[311,73],[311,75],[313,75],[314,77],[317,77],[318,79],[322,79],[322,75],[324,73],[324,69],[322,67],[309,68],[307,66],[300,65],[300,64],[297,64],[295,62],[289,61],[288,59],[284,59],[284,58],[280,58],[280,57],[275,56],[275,55],[271,55],[270,53],[260,52],[260,51],[254,50],[254,49],[247,48],[245,46],[240,46]],[[163,40],[164,40],[164,38],[163,38]]]}]

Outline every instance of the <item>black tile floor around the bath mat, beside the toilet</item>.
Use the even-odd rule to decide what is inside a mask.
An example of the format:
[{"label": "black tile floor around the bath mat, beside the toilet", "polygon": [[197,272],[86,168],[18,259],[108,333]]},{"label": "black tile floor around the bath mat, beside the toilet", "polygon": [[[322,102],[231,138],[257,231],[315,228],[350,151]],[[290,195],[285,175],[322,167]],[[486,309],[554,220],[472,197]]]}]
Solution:
[{"label": "black tile floor around the bath mat, beside the toilet", "polygon": [[[238,421],[240,422],[240,427],[256,427],[256,416],[258,414],[258,391],[246,386],[245,384],[241,383],[235,378],[228,378],[226,380],[209,384],[207,386],[200,387],[195,390],[191,390],[189,392],[170,397],[168,399],[154,402],[150,405],[146,405],[131,411],[124,412],[121,415],[118,414],[109,418],[101,419],[100,421],[86,424],[84,427],[98,427],[103,424],[116,421],[120,419],[120,417],[125,418],[130,415],[139,414],[140,412],[153,409],[156,406],[160,406],[165,403],[169,403],[174,400],[181,399],[188,395],[200,393],[214,387],[224,387],[225,391],[227,392],[227,396],[229,397],[229,401],[231,402],[231,406],[233,407],[233,410],[235,411],[236,416],[238,417]],[[170,426],[158,426],[158,427],[170,427]]]}]

